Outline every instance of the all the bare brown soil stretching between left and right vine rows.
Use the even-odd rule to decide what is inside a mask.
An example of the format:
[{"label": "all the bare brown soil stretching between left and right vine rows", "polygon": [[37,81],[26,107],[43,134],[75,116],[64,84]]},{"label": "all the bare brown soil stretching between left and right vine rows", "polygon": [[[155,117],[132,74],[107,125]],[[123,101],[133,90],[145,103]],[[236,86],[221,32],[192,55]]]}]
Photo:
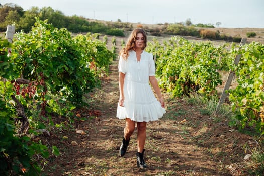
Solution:
[{"label": "all the bare brown soil stretching between left and right vine rows", "polygon": [[[120,39],[117,46],[120,46]],[[119,49],[119,48],[118,48]],[[118,60],[102,79],[102,87],[85,95],[89,106],[75,110],[68,127],[40,136],[49,148],[57,146],[59,156],[43,163],[42,175],[248,175],[243,166],[255,140],[227,125],[224,119],[203,115],[202,107],[163,92],[166,114],[147,125],[146,169],[136,165],[135,130],[124,157],[119,156],[124,120],[116,118],[119,99]],[[54,122],[58,118],[54,118]],[[63,120],[61,121],[63,122]]]}]

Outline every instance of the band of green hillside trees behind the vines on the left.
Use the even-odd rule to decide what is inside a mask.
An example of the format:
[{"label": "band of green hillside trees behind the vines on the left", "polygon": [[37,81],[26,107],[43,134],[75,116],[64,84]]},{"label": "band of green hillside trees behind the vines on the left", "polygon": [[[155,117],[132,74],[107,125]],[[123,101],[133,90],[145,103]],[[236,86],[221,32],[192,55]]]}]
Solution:
[{"label": "band of green hillside trees behind the vines on the left", "polygon": [[8,24],[16,24],[16,31],[23,30],[25,33],[31,31],[36,22],[36,17],[42,21],[47,19],[48,23],[51,23],[56,28],[67,28],[70,32],[92,32],[92,33],[112,33],[118,36],[123,36],[122,30],[110,30],[110,29],[132,29],[132,24],[122,23],[120,19],[116,22],[117,27],[106,26],[101,22],[89,22],[84,17],[79,16],[65,16],[61,11],[54,10],[51,7],[44,7],[39,9],[38,7],[32,7],[28,11],[13,3],[0,6],[0,31],[6,31]]}]

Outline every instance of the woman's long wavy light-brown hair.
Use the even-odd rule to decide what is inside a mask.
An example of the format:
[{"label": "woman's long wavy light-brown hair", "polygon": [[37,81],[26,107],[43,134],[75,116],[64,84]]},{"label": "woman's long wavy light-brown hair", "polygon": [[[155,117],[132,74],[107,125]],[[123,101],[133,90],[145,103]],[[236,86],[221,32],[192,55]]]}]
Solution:
[{"label": "woman's long wavy light-brown hair", "polygon": [[126,46],[124,48],[122,48],[122,50],[119,53],[119,55],[121,55],[124,58],[124,60],[127,60],[128,56],[129,56],[129,51],[134,49],[138,33],[141,33],[144,37],[144,43],[143,43],[143,46],[141,47],[141,49],[144,50],[146,48],[146,46],[147,46],[147,35],[146,35],[145,30],[142,28],[134,29],[131,32],[131,34],[127,40]]}]

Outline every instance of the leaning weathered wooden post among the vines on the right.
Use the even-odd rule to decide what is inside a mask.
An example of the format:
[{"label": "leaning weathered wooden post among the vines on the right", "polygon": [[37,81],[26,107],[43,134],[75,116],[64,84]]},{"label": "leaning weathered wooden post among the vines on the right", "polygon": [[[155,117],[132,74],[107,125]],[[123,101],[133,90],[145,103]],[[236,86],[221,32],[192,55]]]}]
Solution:
[{"label": "leaning weathered wooden post among the vines on the right", "polygon": [[[246,38],[242,38],[241,42],[240,42],[240,47],[239,47],[239,50],[241,49],[241,47],[246,43]],[[234,60],[234,64],[235,65],[238,65],[238,62],[240,60],[240,57],[241,57],[241,54],[238,54],[236,55],[235,57],[235,60]],[[231,82],[232,82],[232,79],[235,75],[235,71],[230,71],[229,75],[228,75],[228,78],[227,78],[227,81],[225,82],[225,86],[224,86],[224,89],[223,89],[223,92],[222,92],[222,95],[220,97],[220,100],[218,102],[218,105],[217,105],[217,108],[216,108],[216,113],[219,111],[220,109],[220,106],[224,103],[225,101],[225,98],[226,98],[226,90],[229,89],[230,85],[231,85]]]}]

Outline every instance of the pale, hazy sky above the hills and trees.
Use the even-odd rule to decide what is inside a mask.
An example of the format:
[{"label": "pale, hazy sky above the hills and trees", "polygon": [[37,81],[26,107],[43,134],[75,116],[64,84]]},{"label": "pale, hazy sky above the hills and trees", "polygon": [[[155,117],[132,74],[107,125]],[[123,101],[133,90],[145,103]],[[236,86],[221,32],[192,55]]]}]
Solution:
[{"label": "pale, hazy sky above the hills and trees", "polygon": [[223,28],[264,28],[264,0],[0,0],[24,10],[52,7],[66,16],[89,19],[158,24],[190,19],[192,24]]}]

